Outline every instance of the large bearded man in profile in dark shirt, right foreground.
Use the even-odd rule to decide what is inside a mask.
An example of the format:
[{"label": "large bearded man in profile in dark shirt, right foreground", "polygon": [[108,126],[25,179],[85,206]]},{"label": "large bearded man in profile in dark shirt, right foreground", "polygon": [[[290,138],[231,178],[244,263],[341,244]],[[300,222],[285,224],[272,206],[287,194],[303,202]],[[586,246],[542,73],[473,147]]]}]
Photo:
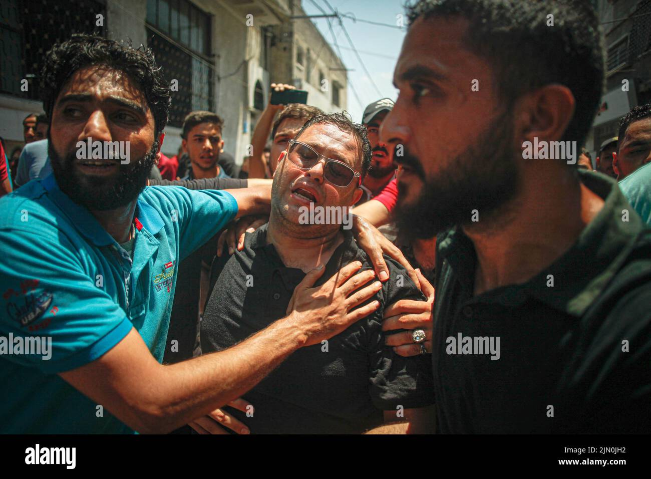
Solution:
[{"label": "large bearded man in profile in dark shirt, right foreground", "polygon": [[[404,146],[398,220],[437,235],[436,430],[648,433],[651,231],[576,166],[602,93],[594,10],[422,0],[408,17],[381,138]],[[555,141],[574,154],[525,154]]]}]

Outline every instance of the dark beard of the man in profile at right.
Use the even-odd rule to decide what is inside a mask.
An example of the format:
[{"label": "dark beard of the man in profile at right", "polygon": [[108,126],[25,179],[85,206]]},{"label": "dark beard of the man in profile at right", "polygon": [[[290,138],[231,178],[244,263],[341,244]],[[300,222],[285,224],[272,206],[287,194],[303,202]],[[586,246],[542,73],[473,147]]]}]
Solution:
[{"label": "dark beard of the man in profile at right", "polygon": [[417,239],[432,238],[454,225],[472,224],[474,209],[486,222],[513,199],[519,181],[511,122],[506,112],[497,115],[490,123],[495,126],[489,126],[464,152],[447,161],[434,177],[426,177],[419,158],[405,149],[399,163],[410,167],[422,186],[417,199],[406,203],[408,186],[398,182],[394,218],[400,231],[409,231]]}]

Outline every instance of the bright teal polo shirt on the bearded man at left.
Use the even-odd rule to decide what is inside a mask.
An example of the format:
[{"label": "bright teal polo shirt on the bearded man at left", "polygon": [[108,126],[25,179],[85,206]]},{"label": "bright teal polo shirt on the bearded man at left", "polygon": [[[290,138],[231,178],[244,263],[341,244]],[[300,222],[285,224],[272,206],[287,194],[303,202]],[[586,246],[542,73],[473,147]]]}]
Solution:
[{"label": "bright teal polo shirt on the bearded man at left", "polygon": [[[0,199],[0,211],[0,433],[133,433],[57,373],[96,360],[131,328],[161,362],[178,264],[236,216],[237,202],[145,188],[132,255],[53,175]],[[29,337],[43,338],[40,354],[18,349]]]}]

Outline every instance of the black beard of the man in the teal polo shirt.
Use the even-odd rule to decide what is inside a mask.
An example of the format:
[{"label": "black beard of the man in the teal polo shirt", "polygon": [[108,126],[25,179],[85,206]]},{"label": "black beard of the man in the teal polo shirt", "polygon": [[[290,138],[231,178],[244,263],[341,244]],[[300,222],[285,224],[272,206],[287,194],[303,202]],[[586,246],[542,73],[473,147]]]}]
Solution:
[{"label": "black beard of the man in the teal polo shirt", "polygon": [[90,177],[81,175],[76,169],[76,152],[62,158],[48,138],[48,154],[59,188],[77,205],[95,211],[117,209],[135,200],[145,188],[152,167],[156,164],[157,150],[158,139],[142,158],[126,165],[120,164],[115,177]]}]

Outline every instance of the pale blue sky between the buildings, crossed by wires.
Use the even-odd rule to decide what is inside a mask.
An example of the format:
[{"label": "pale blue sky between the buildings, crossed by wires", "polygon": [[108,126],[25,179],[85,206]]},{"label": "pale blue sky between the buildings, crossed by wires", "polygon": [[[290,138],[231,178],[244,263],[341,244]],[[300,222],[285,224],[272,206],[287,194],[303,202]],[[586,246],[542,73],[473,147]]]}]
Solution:
[{"label": "pale blue sky between the buildings, crossed by wires", "polygon": [[[331,13],[325,0],[302,0],[303,9],[308,15],[322,14],[314,6],[314,3],[327,13]],[[404,8],[402,7],[404,0],[327,0],[327,3],[344,15],[391,25],[396,25],[396,15],[404,15]],[[360,65],[354,51],[352,51],[348,38],[346,38],[346,34],[340,27],[337,18],[331,18],[330,20],[335,38],[337,38],[337,44],[340,46],[342,60],[346,68],[354,70],[348,72],[348,107],[346,109],[352,116],[353,121],[359,122],[365,106],[369,103],[384,97],[392,100],[396,99],[396,89],[393,87],[391,80],[393,78],[393,68],[400,54],[400,47],[406,32],[404,29],[354,22],[350,18],[342,18],[343,26],[348,31],[353,46],[357,49],[366,66],[370,74],[369,77],[364,67]],[[333,45],[333,37],[327,20],[325,18],[314,18],[312,22],[321,31],[329,44]],[[337,52],[335,46],[333,46],[333,50]],[[355,98],[353,88],[357,91],[361,105]]]}]

